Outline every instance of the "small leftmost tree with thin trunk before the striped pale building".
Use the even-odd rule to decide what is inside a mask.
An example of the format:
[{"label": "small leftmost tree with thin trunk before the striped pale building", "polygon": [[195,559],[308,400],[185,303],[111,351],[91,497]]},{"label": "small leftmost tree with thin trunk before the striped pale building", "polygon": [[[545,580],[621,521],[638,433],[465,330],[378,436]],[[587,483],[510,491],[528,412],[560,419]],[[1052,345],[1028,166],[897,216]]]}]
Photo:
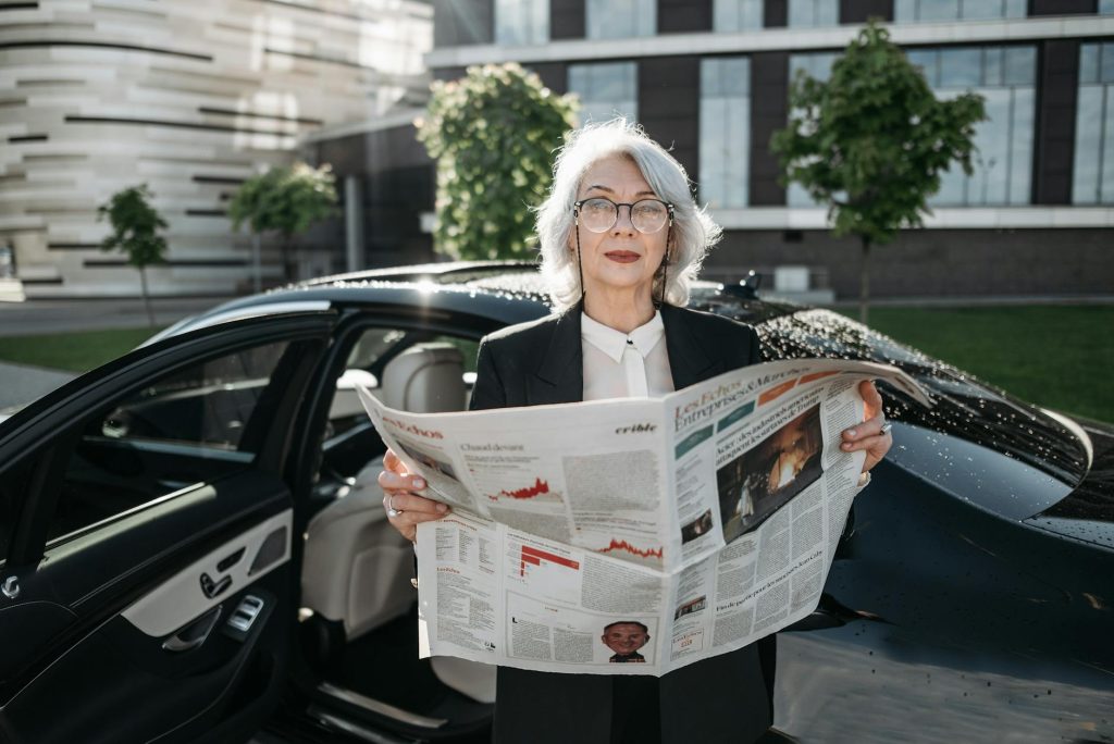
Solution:
[{"label": "small leftmost tree with thin trunk before the striped pale building", "polygon": [[166,221],[150,205],[155,195],[147,184],[117,192],[97,208],[97,219],[107,218],[113,232],[100,243],[101,251],[120,251],[127,262],[139,270],[147,323],[155,326],[155,313],[147,290],[147,266],[160,264],[166,255],[166,238],[158,234],[166,229]]}]

